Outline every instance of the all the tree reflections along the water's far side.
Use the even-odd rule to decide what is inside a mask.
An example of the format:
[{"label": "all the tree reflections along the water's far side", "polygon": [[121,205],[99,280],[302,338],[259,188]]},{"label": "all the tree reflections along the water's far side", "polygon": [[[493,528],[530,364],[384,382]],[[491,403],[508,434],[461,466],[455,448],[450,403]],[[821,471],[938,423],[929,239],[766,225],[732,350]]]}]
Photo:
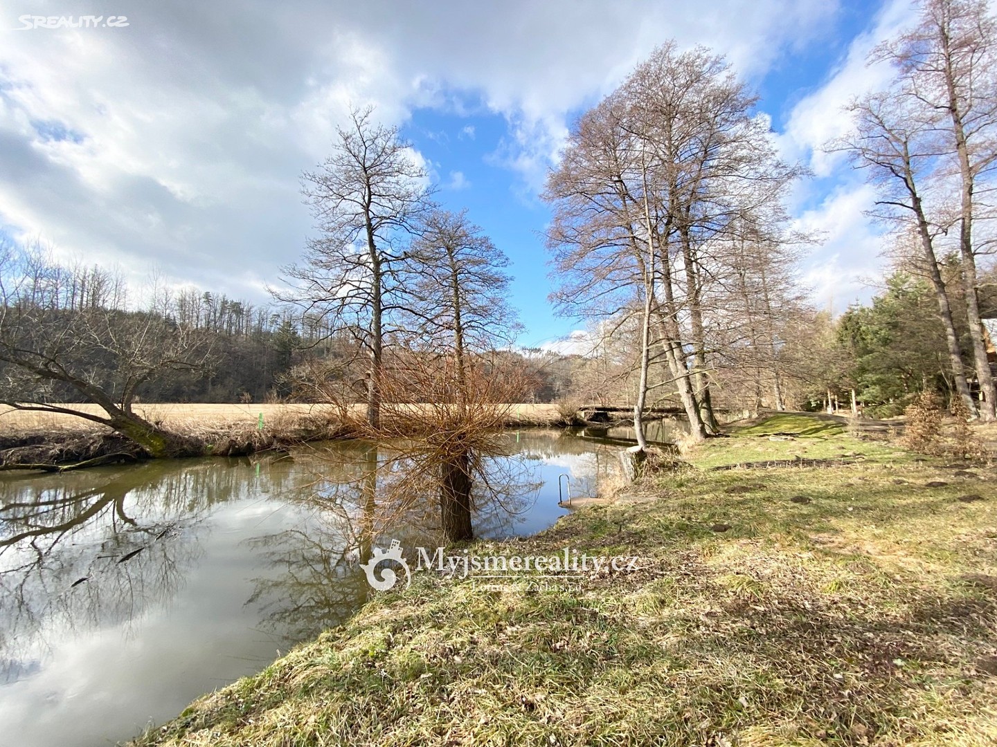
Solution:
[{"label": "all the tree reflections along the water's far side", "polygon": [[[481,461],[488,485],[474,493],[478,536],[511,534],[516,516],[531,509],[537,460],[592,451],[556,432],[522,431],[518,443],[509,433],[499,443]],[[403,452],[347,441],[290,457],[0,479],[0,682],[30,671],[49,640],[166,605],[202,553],[203,519],[231,500],[307,500],[313,508],[301,528],[252,543],[270,567],[251,600],[265,624],[300,639],[340,622],[367,592],[357,566],[374,544],[441,544],[438,476],[398,458]]]}]

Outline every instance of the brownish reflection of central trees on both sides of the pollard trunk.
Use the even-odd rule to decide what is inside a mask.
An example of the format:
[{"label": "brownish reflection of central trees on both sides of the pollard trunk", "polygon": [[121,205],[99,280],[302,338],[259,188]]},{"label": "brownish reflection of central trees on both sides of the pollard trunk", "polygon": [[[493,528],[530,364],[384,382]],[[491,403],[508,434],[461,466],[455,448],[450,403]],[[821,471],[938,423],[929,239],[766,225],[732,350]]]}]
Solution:
[{"label": "brownish reflection of central trees on both sides of the pollard trunk", "polygon": [[[260,610],[268,631],[297,641],[345,621],[370,593],[359,566],[375,545],[398,540],[414,561],[415,548],[441,544],[439,480],[397,453],[404,451],[370,443],[327,453],[335,461],[325,465],[325,475],[315,478],[304,499],[315,509],[308,529],[248,541],[273,572],[255,581],[246,603]],[[540,483],[530,465],[515,457],[489,457],[485,469],[488,485],[475,493],[476,532],[510,534],[515,516],[532,507]]]}]

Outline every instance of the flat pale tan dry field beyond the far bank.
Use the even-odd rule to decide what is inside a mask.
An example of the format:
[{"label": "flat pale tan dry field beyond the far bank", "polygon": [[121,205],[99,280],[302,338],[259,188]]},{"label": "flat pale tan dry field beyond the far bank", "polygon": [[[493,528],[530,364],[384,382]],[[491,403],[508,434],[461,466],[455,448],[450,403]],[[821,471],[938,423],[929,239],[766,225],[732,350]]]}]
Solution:
[{"label": "flat pale tan dry field beyond the far bank", "polygon": [[[66,405],[84,412],[101,414],[102,410],[93,404]],[[364,411],[363,405],[356,405],[357,413]],[[335,417],[337,409],[331,404],[190,404],[190,403],[142,403],[135,405],[136,412],[147,420],[161,421],[179,432],[203,429],[238,429],[257,427],[260,415],[264,426],[274,423],[291,424],[295,419],[307,416]],[[559,415],[554,404],[514,404],[509,411],[510,422],[523,424],[548,424],[555,422]],[[15,410],[0,405],[0,434],[53,432],[68,430],[88,430],[100,427],[73,415],[56,412],[34,412]]]}]

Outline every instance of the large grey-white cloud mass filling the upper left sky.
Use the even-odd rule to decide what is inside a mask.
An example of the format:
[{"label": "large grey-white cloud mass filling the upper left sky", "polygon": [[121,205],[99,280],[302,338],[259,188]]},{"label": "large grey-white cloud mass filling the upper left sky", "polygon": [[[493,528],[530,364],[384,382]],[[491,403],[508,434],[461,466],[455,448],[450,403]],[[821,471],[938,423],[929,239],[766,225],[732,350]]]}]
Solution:
[{"label": "large grey-white cloud mass filling the upper left sky", "polygon": [[[180,0],[136,6],[128,28],[0,31],[0,223],[89,261],[144,274],[155,258],[178,281],[255,295],[300,251],[298,175],[350,102],[402,123],[480,99],[509,124],[498,159],[535,190],[569,114],[656,45],[707,44],[757,77],[833,13],[824,0],[723,0],[708,15],[639,0]],[[46,141],[40,122],[82,140]]]}]

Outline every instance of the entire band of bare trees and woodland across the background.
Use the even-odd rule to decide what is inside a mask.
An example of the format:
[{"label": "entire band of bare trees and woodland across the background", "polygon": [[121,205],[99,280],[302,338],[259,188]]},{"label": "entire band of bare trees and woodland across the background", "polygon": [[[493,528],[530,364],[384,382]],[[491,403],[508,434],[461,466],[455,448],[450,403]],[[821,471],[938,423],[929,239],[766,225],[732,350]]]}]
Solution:
[{"label": "entire band of bare trees and woodland across the background", "polygon": [[[302,174],[317,231],[271,289],[276,306],[162,285],[136,303],[114,273],[8,246],[0,399],[56,411],[58,402],[97,402],[106,414],[90,419],[138,434],[155,430],[136,419],[140,394],[272,392],[335,398],[344,412],[363,401],[375,433],[386,391],[392,406],[405,391],[461,405],[479,396],[470,382],[483,371],[516,369],[523,398],[632,404],[638,458],[646,410],[670,402],[693,440],[717,432],[721,406],[827,403],[842,386],[857,400],[896,399],[915,380],[994,419],[981,319],[997,24],[976,0],[919,8],[915,27],[872,55],[893,67],[893,80],[854,102],[853,131],[829,144],[867,170],[874,214],[901,247],[902,277],[865,311],[835,321],[807,303],[796,271],[812,238],[793,229],[783,204],[804,169],[780,157],[754,93],[723,57],[668,43],[572,126],[542,195],[551,299],[588,320],[587,354],[512,349],[507,258],[467,211],[434,202],[398,128],[363,109]],[[923,314],[924,293],[935,311],[919,320],[917,337],[931,346],[919,362],[873,351],[885,339],[882,319]],[[900,383],[872,363],[901,358]],[[946,362],[940,377],[928,371],[937,360]]]}]

